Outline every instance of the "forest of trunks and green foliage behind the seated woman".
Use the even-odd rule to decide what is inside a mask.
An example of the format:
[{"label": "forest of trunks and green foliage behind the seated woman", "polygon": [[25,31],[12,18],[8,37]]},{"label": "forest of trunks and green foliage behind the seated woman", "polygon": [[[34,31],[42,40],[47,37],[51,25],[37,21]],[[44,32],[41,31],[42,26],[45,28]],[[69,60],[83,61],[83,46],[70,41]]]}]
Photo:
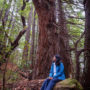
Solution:
[{"label": "forest of trunks and green foliage behind the seated woman", "polygon": [[88,90],[89,21],[90,0],[0,0],[0,87],[46,78],[58,53]]}]

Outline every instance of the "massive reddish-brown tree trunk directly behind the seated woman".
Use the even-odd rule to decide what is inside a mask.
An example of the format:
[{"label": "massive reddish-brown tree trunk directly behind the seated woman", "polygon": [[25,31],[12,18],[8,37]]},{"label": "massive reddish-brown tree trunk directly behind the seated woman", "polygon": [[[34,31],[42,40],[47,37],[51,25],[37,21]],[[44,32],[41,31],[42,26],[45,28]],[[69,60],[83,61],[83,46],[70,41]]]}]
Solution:
[{"label": "massive reddish-brown tree trunk directly behind the seated woman", "polygon": [[[46,78],[48,76],[52,57],[59,53],[63,57],[66,76],[69,76],[70,58],[68,57],[67,32],[65,27],[57,29],[55,18],[55,0],[33,0],[39,18],[39,41],[37,63],[35,65],[35,77]],[[65,30],[65,31],[64,31]],[[65,33],[66,32],[66,33]]]}]

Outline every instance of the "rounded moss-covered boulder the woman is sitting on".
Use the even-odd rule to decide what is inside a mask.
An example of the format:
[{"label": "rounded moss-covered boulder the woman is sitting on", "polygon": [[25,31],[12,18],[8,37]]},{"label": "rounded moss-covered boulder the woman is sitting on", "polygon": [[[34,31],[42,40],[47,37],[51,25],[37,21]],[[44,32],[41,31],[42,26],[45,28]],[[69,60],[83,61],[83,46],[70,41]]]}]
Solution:
[{"label": "rounded moss-covered boulder the woman is sitting on", "polygon": [[53,90],[83,90],[83,87],[76,79],[65,79],[58,82]]}]

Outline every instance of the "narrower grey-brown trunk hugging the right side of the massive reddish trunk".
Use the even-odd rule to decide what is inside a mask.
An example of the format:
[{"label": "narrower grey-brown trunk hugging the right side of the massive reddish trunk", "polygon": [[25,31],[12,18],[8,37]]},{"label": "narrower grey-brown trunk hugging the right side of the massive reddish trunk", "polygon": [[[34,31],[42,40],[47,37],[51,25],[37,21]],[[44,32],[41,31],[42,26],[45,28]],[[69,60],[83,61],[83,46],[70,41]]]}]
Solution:
[{"label": "narrower grey-brown trunk hugging the right side of the massive reddish trunk", "polygon": [[58,52],[63,58],[64,66],[65,66],[65,74],[66,77],[72,74],[73,64],[70,56],[69,50],[69,35],[68,29],[66,25],[66,17],[64,13],[63,3],[61,0],[57,0],[59,6],[58,19],[59,19],[59,37],[58,37]]}]

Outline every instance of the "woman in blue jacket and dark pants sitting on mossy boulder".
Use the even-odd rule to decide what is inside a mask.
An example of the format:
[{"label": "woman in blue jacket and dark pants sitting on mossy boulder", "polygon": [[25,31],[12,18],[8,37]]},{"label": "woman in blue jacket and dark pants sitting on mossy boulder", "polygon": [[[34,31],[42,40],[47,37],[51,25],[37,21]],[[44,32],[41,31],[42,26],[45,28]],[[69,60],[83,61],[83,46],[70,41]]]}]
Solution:
[{"label": "woman in blue jacket and dark pants sitting on mossy boulder", "polygon": [[64,65],[60,55],[56,54],[52,60],[49,77],[43,82],[40,90],[53,90],[55,84],[62,80],[65,80]]}]

